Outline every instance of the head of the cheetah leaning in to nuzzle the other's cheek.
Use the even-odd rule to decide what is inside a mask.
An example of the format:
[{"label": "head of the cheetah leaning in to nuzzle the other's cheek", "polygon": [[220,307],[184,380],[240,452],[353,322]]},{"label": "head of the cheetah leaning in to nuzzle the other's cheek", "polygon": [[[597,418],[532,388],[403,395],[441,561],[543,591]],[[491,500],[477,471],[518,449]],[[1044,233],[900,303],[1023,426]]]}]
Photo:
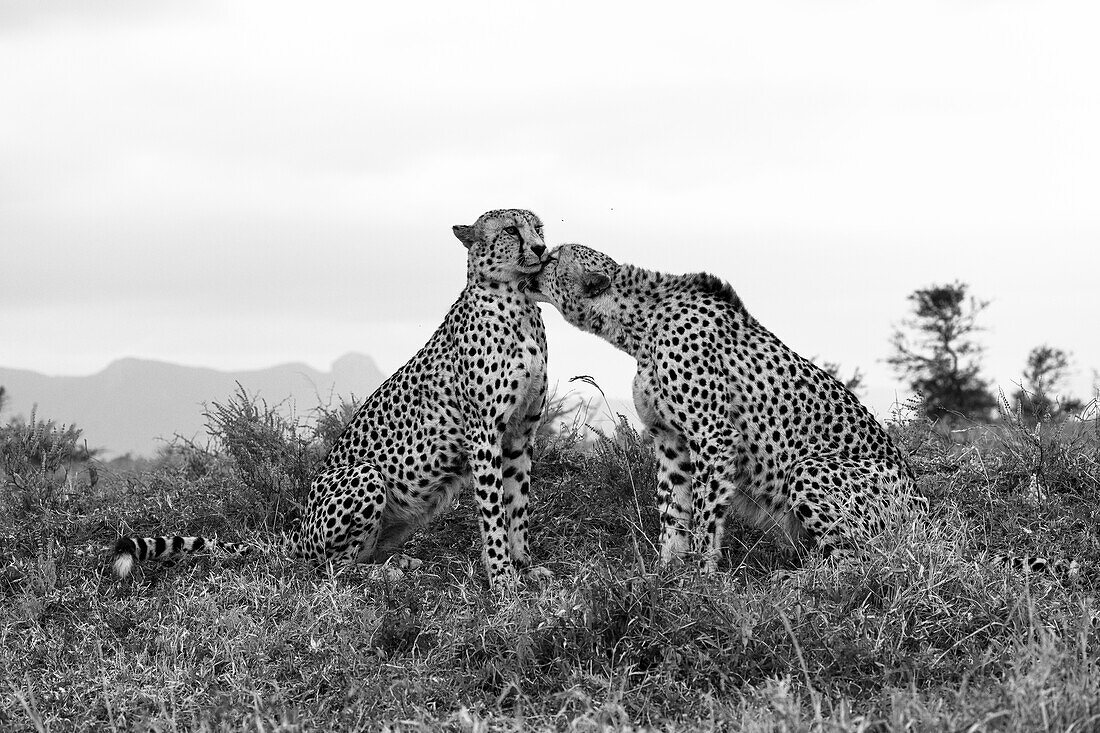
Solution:
[{"label": "head of the cheetah leaning in to nuzzle the other's cheek", "polygon": [[603,252],[583,244],[562,244],[528,281],[527,295],[553,305],[573,326],[608,336],[607,329],[620,317],[609,293],[619,270],[619,264]]}]

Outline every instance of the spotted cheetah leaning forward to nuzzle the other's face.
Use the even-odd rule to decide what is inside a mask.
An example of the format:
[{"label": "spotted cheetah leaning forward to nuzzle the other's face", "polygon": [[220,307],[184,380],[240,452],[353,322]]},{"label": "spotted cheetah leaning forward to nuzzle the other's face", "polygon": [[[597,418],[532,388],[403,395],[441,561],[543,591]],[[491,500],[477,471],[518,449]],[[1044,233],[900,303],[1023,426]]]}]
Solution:
[{"label": "spotted cheetah leaning forward to nuzzle the other's face", "polygon": [[634,401],[658,460],[663,564],[692,556],[714,572],[730,510],[789,546],[838,559],[926,514],[909,462],[870,412],[718,277],[562,244],[526,291],[637,360]]}]

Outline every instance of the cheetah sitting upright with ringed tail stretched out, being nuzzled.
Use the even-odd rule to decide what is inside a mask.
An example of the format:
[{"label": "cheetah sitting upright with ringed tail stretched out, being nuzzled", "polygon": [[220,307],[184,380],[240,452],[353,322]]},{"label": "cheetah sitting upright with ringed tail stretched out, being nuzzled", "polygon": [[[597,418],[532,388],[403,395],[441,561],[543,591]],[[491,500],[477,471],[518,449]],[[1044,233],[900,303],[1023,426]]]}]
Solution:
[{"label": "cheetah sitting upright with ringed tail stretched out, being nuzzled", "polygon": [[[544,263],[542,222],[522,209],[455,226],[466,286],[420,351],[359,408],[312,479],[302,517],[283,538],[292,557],[415,568],[408,536],[475,485],[482,561],[492,586],[547,575],[527,550],[534,438],[547,396],[538,306],[520,285]],[[114,571],[202,548],[253,548],[205,537],[123,537]]]}]

